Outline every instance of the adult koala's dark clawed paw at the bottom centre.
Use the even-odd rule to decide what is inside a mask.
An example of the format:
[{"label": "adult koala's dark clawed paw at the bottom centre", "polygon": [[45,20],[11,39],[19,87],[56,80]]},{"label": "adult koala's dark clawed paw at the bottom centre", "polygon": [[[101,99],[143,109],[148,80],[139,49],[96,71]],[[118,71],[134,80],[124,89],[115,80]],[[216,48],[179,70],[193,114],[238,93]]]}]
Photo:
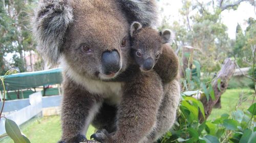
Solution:
[{"label": "adult koala's dark clawed paw at the bottom centre", "polygon": [[111,134],[108,133],[105,129],[98,130],[96,133],[91,135],[91,139],[95,139],[96,141],[99,141],[101,143],[112,143],[112,137]]}]

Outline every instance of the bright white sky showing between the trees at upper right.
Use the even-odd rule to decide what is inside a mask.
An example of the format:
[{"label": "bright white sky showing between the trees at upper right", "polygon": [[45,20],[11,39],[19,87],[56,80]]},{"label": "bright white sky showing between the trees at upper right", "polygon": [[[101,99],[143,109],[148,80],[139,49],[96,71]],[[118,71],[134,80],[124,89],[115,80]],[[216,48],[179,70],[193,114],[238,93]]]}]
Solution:
[{"label": "bright white sky showing between the trees at upper right", "polygon": [[[202,2],[202,0],[201,0]],[[181,16],[179,14],[179,9],[182,7],[181,1],[177,0],[161,0],[158,3],[159,8],[163,8],[162,14],[165,16],[170,16],[169,23],[172,24],[173,21],[179,21]],[[243,30],[245,30],[247,20],[249,17],[256,19],[256,14],[254,13],[254,7],[247,2],[242,2],[236,11],[225,10],[221,13],[222,22],[228,27],[228,36],[230,39],[236,38],[236,27],[239,23]]]}]

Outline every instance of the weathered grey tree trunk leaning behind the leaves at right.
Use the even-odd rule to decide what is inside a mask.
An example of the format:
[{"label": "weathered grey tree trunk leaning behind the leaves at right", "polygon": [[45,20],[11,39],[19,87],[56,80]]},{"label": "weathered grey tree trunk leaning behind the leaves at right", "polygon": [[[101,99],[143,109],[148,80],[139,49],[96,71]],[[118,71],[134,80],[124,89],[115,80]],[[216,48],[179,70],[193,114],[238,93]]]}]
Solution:
[{"label": "weathered grey tree trunk leaning behind the leaves at right", "polygon": [[[236,69],[236,65],[229,58],[227,58],[224,61],[217,77],[211,82],[212,88],[214,89],[214,93],[215,93],[215,100],[212,100],[211,98],[209,98],[209,101],[207,101],[206,97],[203,97],[202,99],[200,99],[204,105],[204,112],[205,112],[205,119],[203,119],[203,116],[200,115],[199,117],[200,122],[203,122],[209,117],[212,108],[218,102],[221,95],[226,91],[228,87],[228,81],[234,74],[235,69]],[[220,81],[218,81],[219,79]],[[218,82],[220,84],[219,87],[218,87]]]}]

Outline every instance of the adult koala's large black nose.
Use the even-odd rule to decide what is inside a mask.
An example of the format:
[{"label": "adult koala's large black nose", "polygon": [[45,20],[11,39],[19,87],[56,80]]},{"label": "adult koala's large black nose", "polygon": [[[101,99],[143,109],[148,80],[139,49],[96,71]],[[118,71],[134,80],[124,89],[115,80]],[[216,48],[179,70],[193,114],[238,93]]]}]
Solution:
[{"label": "adult koala's large black nose", "polygon": [[101,61],[104,74],[117,73],[121,68],[120,56],[117,50],[103,52]]}]

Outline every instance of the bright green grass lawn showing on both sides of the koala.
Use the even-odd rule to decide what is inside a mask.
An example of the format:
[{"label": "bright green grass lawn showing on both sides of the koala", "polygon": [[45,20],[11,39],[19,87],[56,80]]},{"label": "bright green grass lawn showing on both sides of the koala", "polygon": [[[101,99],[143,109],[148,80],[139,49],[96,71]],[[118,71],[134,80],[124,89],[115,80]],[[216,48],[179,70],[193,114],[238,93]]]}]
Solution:
[{"label": "bright green grass lawn showing on both sides of the koala", "polygon": [[[234,109],[246,110],[252,103],[253,91],[250,89],[229,89],[222,95],[222,108],[213,109],[209,117],[210,120],[220,117],[223,113],[230,115]],[[239,100],[240,99],[240,100]],[[242,100],[241,100],[242,99]],[[240,101],[240,102],[239,102]],[[32,143],[56,143],[60,139],[60,117],[33,118],[29,122],[20,126],[22,132],[30,139]],[[95,132],[90,126],[87,137]],[[3,143],[13,143],[10,138],[0,140]]]}]

